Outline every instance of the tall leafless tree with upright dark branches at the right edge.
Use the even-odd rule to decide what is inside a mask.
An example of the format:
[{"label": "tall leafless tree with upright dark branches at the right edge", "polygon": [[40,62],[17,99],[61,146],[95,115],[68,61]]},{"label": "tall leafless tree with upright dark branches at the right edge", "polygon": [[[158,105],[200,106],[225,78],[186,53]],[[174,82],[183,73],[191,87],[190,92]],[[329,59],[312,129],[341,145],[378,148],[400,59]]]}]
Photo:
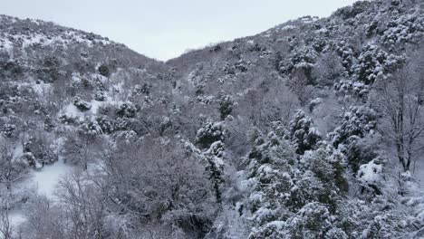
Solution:
[{"label": "tall leafless tree with upright dark branches at the right edge", "polygon": [[424,137],[424,72],[408,63],[379,81],[373,102],[381,113],[381,133],[396,148],[404,171],[422,150]]}]

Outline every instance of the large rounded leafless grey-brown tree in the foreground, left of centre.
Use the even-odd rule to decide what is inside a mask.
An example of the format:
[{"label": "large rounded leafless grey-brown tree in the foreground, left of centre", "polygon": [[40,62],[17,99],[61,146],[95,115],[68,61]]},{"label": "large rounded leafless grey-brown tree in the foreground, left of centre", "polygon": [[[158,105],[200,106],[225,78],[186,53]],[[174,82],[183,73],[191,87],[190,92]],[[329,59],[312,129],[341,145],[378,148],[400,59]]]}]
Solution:
[{"label": "large rounded leafless grey-brown tree in the foreground, left of centre", "polygon": [[106,146],[99,155],[106,181],[94,179],[112,208],[139,218],[143,228],[197,232],[214,213],[212,187],[204,166],[176,141],[147,137]]}]

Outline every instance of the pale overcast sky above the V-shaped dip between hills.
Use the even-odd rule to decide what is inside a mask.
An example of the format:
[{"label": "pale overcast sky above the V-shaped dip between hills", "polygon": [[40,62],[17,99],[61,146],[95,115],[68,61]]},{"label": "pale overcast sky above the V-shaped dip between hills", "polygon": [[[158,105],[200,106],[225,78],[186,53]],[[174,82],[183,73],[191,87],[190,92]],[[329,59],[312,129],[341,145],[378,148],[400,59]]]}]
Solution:
[{"label": "pale overcast sky above the V-shaped dip between hills", "polygon": [[355,0],[3,0],[0,14],[99,33],[151,58],[260,33]]}]

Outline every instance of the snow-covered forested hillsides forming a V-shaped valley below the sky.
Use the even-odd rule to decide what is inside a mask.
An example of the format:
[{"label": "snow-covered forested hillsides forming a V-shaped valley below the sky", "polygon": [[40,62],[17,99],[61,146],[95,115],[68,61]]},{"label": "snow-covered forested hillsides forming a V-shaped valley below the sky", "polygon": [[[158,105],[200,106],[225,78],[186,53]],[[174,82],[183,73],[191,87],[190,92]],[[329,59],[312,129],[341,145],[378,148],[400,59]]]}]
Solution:
[{"label": "snow-covered forested hillsides forming a V-shaped valley below the sky", "polygon": [[0,15],[0,237],[424,238],[424,2],[168,62]]}]

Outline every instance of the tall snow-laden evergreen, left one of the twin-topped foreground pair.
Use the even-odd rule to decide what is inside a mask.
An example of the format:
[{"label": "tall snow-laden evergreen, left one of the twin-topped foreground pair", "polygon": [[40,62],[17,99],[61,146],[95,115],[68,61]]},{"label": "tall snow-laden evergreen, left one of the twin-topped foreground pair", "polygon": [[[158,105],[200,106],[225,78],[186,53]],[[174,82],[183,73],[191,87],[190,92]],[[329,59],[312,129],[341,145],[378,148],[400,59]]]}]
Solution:
[{"label": "tall snow-laden evergreen, left one of the twin-topped foreground pair", "polygon": [[[290,212],[285,202],[294,185],[294,148],[271,132],[258,136],[246,158],[248,209],[253,225],[249,238],[278,238],[278,226]],[[274,236],[274,237],[273,237]]]}]

